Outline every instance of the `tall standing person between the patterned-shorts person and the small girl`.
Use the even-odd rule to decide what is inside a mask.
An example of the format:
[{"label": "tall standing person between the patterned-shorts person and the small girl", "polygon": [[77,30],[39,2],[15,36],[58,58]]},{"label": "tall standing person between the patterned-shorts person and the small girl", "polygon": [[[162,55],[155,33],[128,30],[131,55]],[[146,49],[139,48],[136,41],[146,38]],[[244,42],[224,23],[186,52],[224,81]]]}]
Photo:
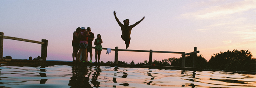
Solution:
[{"label": "tall standing person between the patterned-shorts person and the small girl", "polygon": [[94,41],[94,33],[91,32],[91,28],[87,27],[87,31],[89,32],[90,36],[88,36],[88,48],[87,48],[87,59],[88,59],[88,52],[90,53],[90,63],[92,63],[92,41]]}]

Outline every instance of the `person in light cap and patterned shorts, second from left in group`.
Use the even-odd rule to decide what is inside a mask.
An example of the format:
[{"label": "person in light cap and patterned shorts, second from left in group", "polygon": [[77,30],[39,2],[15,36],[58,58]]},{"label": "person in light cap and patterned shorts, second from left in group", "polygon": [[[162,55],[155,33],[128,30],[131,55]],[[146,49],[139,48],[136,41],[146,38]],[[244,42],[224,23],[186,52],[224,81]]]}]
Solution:
[{"label": "person in light cap and patterned shorts, second from left in group", "polygon": [[[78,38],[80,38],[79,43],[79,51],[78,51],[78,62],[80,62],[79,58],[81,56],[81,52],[84,50],[83,54],[87,57],[87,48],[88,48],[88,36],[90,36],[89,32],[85,30],[85,27],[81,27],[81,32],[78,34]],[[87,62],[87,59],[83,57],[83,60]]]}]

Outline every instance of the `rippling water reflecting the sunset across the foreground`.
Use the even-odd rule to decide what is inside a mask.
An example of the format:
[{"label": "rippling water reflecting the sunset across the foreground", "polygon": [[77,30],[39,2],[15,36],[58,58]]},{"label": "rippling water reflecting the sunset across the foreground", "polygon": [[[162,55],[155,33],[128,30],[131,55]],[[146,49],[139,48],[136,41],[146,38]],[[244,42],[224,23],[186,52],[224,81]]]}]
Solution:
[{"label": "rippling water reflecting the sunset across the foreground", "polygon": [[0,66],[0,88],[256,88],[256,75],[147,68]]}]

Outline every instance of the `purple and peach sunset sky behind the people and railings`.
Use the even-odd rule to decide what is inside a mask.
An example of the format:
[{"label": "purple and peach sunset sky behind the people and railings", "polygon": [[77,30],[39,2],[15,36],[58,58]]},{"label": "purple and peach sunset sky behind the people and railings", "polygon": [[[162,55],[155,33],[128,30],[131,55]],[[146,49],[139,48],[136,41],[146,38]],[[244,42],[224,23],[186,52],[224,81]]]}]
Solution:
[{"label": "purple and peach sunset sky behind the people and railings", "polygon": [[[128,49],[192,52],[209,61],[214,53],[247,50],[256,56],[256,0],[0,0],[0,32],[34,41],[48,40],[48,60],[72,61],[72,34],[91,27],[102,47],[125,49],[120,26],[130,20]],[[123,23],[123,22],[122,22]],[[94,46],[94,45],[93,45]],[[93,62],[95,52],[93,49]],[[4,39],[3,56],[41,56],[41,44]],[[102,50],[101,61],[114,61],[115,51]],[[181,54],[153,53],[153,59]],[[88,58],[89,59],[89,58]],[[148,52],[119,52],[119,61],[148,61]]]}]

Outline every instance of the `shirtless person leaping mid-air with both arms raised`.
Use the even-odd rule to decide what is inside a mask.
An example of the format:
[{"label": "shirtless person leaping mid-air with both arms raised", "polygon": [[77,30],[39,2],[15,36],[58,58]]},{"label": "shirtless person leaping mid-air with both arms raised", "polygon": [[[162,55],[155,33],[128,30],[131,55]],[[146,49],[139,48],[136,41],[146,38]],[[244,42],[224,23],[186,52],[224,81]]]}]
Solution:
[{"label": "shirtless person leaping mid-air with both arms raised", "polygon": [[117,20],[118,25],[121,27],[122,30],[122,39],[125,41],[125,45],[126,45],[126,49],[129,47],[130,44],[130,40],[131,40],[131,31],[132,28],[135,27],[136,25],[138,25],[145,17],[143,17],[141,20],[139,20],[138,22],[136,22],[133,25],[129,26],[129,19],[125,19],[124,20],[124,24],[122,24],[117,16],[116,16],[116,12],[114,11],[114,15],[115,15],[115,19]]}]

